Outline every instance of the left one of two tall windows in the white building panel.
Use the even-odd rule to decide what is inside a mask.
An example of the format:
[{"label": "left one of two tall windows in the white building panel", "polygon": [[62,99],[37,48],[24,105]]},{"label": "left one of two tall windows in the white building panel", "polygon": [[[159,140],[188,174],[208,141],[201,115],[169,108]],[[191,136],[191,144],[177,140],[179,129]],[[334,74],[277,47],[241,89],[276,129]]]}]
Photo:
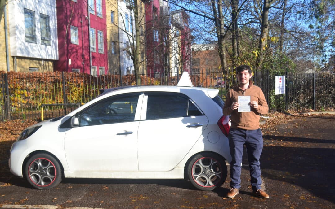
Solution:
[{"label": "left one of two tall windows in the white building panel", "polygon": [[35,11],[24,8],[25,41],[36,43]]}]

